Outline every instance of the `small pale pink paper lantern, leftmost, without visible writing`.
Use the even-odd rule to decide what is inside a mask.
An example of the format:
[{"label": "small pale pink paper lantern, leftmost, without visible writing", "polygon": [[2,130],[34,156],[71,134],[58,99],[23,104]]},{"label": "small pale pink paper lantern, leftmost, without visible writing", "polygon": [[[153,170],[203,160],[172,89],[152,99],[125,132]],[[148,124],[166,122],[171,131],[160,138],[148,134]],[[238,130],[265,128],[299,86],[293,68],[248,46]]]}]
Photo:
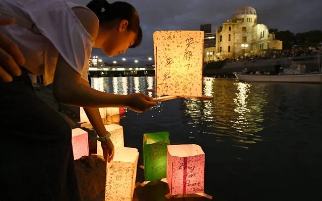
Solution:
[{"label": "small pale pink paper lantern, leftmost, without visible writing", "polygon": [[86,131],[76,128],[72,130],[72,145],[74,159],[77,160],[82,156],[89,155],[88,134]]}]

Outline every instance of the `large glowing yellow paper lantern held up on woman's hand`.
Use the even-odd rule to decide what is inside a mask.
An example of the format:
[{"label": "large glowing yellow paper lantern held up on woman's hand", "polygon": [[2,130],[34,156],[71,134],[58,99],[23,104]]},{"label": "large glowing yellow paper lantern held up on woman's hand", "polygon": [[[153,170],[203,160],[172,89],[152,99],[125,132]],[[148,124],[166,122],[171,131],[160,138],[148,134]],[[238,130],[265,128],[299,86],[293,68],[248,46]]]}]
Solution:
[{"label": "large glowing yellow paper lantern held up on woman's hand", "polygon": [[202,96],[203,31],[153,34],[157,95]]}]

